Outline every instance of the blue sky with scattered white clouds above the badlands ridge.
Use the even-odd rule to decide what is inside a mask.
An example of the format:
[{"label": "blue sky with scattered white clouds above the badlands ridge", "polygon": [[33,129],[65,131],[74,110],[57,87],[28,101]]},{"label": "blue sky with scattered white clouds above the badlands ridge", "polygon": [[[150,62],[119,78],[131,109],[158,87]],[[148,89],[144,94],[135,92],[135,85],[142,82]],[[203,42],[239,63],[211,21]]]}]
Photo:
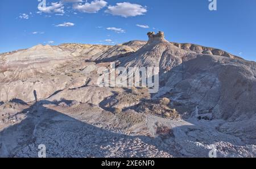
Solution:
[{"label": "blue sky with scattered white clouds above the badlands ridge", "polygon": [[0,53],[36,44],[119,44],[166,39],[226,50],[256,61],[256,1],[217,0],[1,0]]}]

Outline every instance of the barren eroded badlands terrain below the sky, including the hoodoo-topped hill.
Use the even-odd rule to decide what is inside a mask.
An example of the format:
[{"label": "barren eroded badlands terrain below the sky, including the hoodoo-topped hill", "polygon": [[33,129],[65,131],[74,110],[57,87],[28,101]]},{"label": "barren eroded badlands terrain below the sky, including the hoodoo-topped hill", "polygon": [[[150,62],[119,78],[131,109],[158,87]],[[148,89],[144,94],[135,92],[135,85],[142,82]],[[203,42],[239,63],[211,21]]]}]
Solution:
[{"label": "barren eroded badlands terrain below the sky, including the hoodoo-topped hill", "polygon": [[[256,63],[148,37],[0,54],[0,157],[256,157]],[[159,91],[98,86],[111,62],[159,67]]]}]

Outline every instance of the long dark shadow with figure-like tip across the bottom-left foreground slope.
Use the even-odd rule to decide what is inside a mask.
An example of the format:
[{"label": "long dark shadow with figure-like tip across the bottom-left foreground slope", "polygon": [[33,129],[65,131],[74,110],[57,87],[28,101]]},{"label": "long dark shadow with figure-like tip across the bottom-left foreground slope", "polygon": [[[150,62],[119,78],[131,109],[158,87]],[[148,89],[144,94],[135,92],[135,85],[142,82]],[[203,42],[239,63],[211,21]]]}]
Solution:
[{"label": "long dark shadow with figure-like tip across the bottom-left foreground slope", "polygon": [[[61,102],[70,103],[42,100],[24,109],[26,119],[0,132],[0,157],[38,157],[40,144],[46,145],[47,157],[106,157],[112,154],[112,149],[118,149],[114,145],[118,142],[135,138],[155,146],[159,142],[159,138],[113,133],[43,106]],[[122,155],[129,157],[129,152],[127,148]],[[139,153],[138,157],[147,157],[147,152]]]}]

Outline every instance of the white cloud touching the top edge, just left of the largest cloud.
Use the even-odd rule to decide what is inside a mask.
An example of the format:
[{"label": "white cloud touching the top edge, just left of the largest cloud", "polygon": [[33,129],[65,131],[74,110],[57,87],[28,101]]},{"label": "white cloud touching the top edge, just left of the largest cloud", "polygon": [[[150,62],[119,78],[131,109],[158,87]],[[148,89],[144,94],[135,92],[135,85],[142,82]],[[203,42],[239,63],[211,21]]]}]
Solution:
[{"label": "white cloud touching the top edge, just left of the largest cloud", "polygon": [[80,12],[85,12],[85,13],[96,13],[100,11],[102,8],[104,8],[108,2],[103,1],[103,0],[95,0],[92,1],[91,3],[85,2],[84,4],[82,3],[75,3],[73,5],[73,9],[78,10]]}]

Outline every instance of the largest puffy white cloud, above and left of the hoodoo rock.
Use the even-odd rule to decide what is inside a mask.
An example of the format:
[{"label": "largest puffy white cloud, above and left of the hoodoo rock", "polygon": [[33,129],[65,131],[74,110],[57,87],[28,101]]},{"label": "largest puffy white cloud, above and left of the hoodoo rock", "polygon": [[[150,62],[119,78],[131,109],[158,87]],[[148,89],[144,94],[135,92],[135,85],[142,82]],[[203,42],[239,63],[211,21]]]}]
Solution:
[{"label": "largest puffy white cloud, above and left of the hoodoo rock", "polygon": [[108,6],[108,10],[105,12],[127,18],[129,16],[144,15],[144,13],[147,12],[147,9],[146,7],[135,3],[123,2],[117,3],[115,6]]}]

